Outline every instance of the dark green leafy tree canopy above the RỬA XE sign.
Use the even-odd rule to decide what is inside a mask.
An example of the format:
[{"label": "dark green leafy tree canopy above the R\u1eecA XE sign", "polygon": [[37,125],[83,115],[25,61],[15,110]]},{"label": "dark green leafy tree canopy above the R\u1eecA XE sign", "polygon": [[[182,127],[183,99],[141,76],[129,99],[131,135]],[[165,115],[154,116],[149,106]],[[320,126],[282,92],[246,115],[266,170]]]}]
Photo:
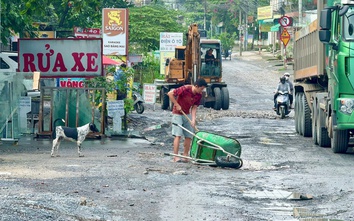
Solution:
[{"label": "dark green leafy tree canopy above the R\u1eecA XE sign", "polygon": [[12,31],[34,37],[33,22],[46,23],[56,31],[99,28],[103,8],[131,6],[124,0],[1,0],[1,41],[7,44]]}]

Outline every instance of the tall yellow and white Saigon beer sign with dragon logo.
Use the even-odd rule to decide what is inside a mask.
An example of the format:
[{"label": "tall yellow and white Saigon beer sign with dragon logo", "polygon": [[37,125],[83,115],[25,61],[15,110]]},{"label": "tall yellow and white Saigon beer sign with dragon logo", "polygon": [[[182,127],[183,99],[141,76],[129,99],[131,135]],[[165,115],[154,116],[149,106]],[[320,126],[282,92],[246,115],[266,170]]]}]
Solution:
[{"label": "tall yellow and white Saigon beer sign with dragon logo", "polygon": [[128,9],[102,10],[104,55],[128,55]]}]

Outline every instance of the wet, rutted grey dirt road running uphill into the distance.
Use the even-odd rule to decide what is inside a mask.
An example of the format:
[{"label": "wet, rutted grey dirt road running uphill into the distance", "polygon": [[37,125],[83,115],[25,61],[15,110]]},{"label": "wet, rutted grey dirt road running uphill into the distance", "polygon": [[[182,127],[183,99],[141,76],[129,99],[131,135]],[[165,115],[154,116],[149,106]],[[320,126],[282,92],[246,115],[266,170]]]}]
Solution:
[{"label": "wet, rutted grey dirt road running uphill into the distance", "polygon": [[[263,58],[262,58],[263,57]],[[198,111],[198,128],[237,139],[241,169],[172,163],[170,112],[130,116],[138,138],[0,145],[0,220],[354,220],[354,155],[298,136],[271,110],[283,71],[269,54],[224,61],[230,109]],[[301,197],[300,197],[301,195]],[[300,199],[301,198],[301,199]]]}]

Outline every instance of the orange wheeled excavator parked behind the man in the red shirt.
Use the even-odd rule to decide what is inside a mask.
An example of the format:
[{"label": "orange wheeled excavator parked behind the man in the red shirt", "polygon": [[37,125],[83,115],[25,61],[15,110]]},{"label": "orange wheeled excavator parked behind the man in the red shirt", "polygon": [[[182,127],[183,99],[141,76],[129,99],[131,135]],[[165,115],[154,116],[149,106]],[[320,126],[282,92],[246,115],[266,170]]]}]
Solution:
[{"label": "orange wheeled excavator parked behind the man in the red shirt", "polygon": [[[189,26],[186,37],[186,45],[177,46],[174,58],[166,62],[165,79],[155,80],[155,84],[161,86],[161,108],[172,109],[172,103],[167,96],[170,90],[204,78],[208,87],[203,92],[203,106],[215,110],[229,109],[229,91],[227,84],[222,81],[220,40],[201,39],[197,24]],[[204,56],[210,49],[213,49],[215,61],[207,63]]]}]

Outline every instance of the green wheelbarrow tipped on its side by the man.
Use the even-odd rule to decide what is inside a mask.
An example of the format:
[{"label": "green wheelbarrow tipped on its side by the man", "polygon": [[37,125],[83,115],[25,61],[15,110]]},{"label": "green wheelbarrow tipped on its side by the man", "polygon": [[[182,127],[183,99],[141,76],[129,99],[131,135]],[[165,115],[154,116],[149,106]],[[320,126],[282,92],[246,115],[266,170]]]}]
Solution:
[{"label": "green wheelbarrow tipped on its side by the man", "polygon": [[189,159],[192,163],[239,169],[243,165],[241,144],[233,138],[198,131],[193,133],[179,124],[174,124],[193,135],[190,156],[165,153]]}]

